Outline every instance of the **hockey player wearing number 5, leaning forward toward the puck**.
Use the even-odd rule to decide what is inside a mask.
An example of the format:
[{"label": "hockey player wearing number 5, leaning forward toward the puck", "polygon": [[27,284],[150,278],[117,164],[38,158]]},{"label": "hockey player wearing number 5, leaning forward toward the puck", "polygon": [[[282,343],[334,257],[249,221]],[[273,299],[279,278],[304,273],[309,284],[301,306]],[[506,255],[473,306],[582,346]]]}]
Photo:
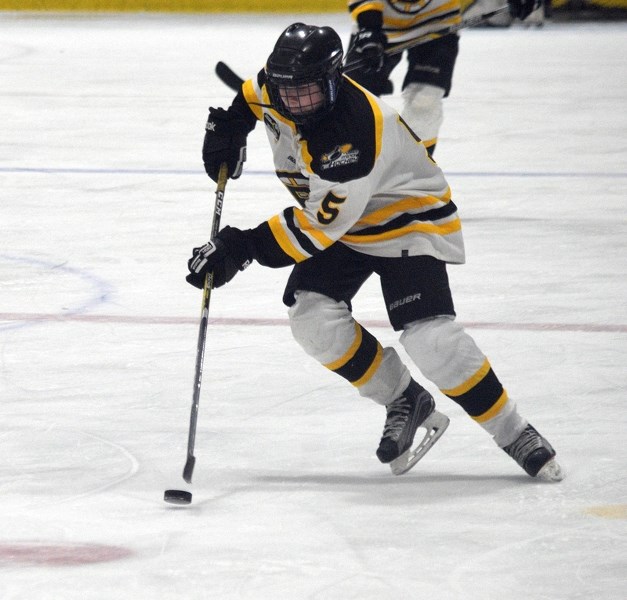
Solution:
[{"label": "hockey player wearing number 5, leaning forward toward the puck", "polygon": [[[408,355],[532,477],[561,479],[551,445],[518,413],[488,359],[455,321],[446,264],[464,262],[457,208],[440,168],[396,111],[342,75],[330,27],[295,23],[266,67],[228,110],[210,108],[203,145],[208,175],[222,163],[240,176],[246,136],[263,122],[277,176],[300,206],[254,229],[224,227],[188,261],[202,288],[230,281],[252,261],[293,265],[283,300],[296,341],[357,391],[385,405],[377,456],[400,474],[444,432],[448,418],[352,316],[373,273]],[[414,444],[418,427],[424,439]]]}]

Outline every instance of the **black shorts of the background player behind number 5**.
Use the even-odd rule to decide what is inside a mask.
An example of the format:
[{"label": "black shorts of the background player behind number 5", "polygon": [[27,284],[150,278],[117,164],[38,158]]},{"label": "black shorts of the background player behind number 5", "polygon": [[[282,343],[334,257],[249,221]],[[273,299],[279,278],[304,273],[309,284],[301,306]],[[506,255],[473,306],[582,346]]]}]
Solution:
[{"label": "black shorts of the background player behind number 5", "polygon": [[[351,38],[352,42],[352,38]],[[426,44],[419,44],[407,51],[407,74],[403,80],[403,89],[410,83],[427,83],[444,90],[448,96],[453,82],[453,70],[459,51],[459,36],[445,35]],[[385,57],[383,68],[374,73],[351,71],[347,75],[373,94],[391,94],[390,74],[401,60],[402,53]]]}]

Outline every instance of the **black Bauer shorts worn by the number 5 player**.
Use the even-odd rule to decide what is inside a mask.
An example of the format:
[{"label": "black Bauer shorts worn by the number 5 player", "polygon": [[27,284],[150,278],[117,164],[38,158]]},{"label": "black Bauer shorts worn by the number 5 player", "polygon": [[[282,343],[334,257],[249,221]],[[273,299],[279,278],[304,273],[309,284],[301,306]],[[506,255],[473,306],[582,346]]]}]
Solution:
[{"label": "black Bauer shorts worn by the number 5 player", "polygon": [[455,316],[446,263],[432,256],[381,258],[351,250],[336,242],[324,252],[298,263],[288,279],[283,302],[292,306],[297,290],[318,292],[329,298],[351,300],[364,282],[376,273],[388,317],[395,331],[439,315]]}]

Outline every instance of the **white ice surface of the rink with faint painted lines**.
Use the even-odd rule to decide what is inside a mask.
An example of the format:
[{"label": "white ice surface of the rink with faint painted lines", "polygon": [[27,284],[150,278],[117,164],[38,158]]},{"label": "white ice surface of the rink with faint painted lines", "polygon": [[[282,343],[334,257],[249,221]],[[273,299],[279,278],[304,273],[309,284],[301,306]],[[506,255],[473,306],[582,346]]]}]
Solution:
[{"label": "white ice surface of the rink with faint painted lines", "polygon": [[[298,18],[348,38],[345,14]],[[451,426],[393,477],[381,407],[292,340],[288,270],[253,266],[211,299],[183,482],[183,278],[207,107],[232,97],[213,68],[255,74],[295,19],[0,14],[0,598],[627,597],[626,23],[465,31],[436,153],[458,318],[566,479],[527,477],[433,387]],[[291,203],[261,126],[248,150],[240,227]],[[375,281],[355,315],[400,351]]]}]

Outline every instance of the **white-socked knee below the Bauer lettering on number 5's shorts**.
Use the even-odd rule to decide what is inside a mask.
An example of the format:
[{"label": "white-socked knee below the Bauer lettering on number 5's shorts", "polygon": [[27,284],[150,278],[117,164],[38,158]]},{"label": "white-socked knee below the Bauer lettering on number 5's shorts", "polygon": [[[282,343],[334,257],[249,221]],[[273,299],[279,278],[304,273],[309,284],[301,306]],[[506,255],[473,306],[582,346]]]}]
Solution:
[{"label": "white-socked knee below the Bauer lettering on number 5's shorts", "polygon": [[401,343],[423,375],[440,389],[459,385],[485,361],[474,340],[449,317],[412,323]]}]

